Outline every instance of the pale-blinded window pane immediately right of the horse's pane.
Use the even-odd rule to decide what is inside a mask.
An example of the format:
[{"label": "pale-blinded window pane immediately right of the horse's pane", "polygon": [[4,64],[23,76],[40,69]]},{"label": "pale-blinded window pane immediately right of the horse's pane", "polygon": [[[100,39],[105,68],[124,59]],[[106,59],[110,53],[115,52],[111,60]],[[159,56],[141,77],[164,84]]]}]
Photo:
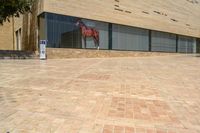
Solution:
[{"label": "pale-blinded window pane immediately right of the horse's pane", "polygon": [[149,50],[148,30],[113,24],[113,49]]}]

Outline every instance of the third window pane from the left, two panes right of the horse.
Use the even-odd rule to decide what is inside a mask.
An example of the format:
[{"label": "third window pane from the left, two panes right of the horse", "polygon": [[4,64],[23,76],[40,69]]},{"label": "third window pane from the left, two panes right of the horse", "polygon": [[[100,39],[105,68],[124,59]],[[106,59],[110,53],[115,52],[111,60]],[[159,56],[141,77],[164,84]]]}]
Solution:
[{"label": "third window pane from the left, two panes right of the horse", "polygon": [[152,31],[152,51],[176,52],[176,35],[158,31]]}]

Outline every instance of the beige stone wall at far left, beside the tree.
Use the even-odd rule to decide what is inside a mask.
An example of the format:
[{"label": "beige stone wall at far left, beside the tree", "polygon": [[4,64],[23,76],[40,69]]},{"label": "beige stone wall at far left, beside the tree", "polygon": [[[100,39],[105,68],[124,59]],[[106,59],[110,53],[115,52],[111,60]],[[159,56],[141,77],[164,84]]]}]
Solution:
[{"label": "beige stone wall at far left, beside the tree", "polygon": [[[17,42],[15,32],[21,28],[22,50],[37,50],[37,15],[43,10],[43,0],[38,0],[33,5],[32,13],[21,15],[20,18],[12,18],[11,22],[5,22],[0,26],[0,50],[16,50]],[[13,23],[14,22],[14,23]]]}]

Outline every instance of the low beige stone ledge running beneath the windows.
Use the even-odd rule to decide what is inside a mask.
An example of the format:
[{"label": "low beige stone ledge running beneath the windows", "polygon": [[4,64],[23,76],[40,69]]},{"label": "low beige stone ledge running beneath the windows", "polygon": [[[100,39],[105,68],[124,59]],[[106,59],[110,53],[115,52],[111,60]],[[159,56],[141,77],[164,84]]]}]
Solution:
[{"label": "low beige stone ledge running beneath the windows", "polygon": [[164,56],[177,53],[47,48],[48,59]]}]

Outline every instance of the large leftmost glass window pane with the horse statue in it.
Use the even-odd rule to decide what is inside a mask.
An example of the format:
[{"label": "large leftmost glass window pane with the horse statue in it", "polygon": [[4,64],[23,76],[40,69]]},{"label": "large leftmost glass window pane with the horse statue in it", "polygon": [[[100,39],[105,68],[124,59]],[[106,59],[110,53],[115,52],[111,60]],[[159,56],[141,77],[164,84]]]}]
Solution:
[{"label": "large leftmost glass window pane with the horse statue in it", "polygon": [[[44,17],[45,16],[45,17]],[[45,20],[43,18],[46,18]],[[97,31],[100,49],[108,49],[108,23],[45,13],[40,17],[40,38],[47,39],[47,47],[52,48],[85,48],[81,21],[86,32]],[[45,30],[46,29],[46,30]],[[46,36],[45,36],[46,35]],[[92,35],[86,35],[86,48],[96,48]]]}]

